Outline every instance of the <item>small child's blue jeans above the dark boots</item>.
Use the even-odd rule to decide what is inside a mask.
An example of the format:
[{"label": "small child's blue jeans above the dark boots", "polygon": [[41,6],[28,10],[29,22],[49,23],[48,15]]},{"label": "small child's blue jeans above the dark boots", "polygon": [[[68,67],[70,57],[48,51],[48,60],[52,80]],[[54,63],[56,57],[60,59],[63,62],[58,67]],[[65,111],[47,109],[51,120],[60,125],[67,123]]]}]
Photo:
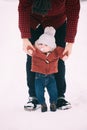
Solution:
[{"label": "small child's blue jeans above the dark boots", "polygon": [[57,102],[57,86],[54,74],[45,75],[36,73],[35,74],[35,91],[36,97],[40,104],[45,104],[44,89],[47,88],[49,94],[50,103]]}]

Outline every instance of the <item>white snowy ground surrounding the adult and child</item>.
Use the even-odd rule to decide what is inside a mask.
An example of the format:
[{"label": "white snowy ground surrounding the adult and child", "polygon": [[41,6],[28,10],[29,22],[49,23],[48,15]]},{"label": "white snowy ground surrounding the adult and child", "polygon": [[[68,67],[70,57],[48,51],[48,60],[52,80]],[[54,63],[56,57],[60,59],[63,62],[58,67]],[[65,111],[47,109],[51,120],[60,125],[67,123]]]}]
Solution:
[{"label": "white snowy ground surrounding the adult and child", "polygon": [[54,113],[23,109],[28,96],[26,55],[17,6],[17,0],[0,0],[0,130],[87,130],[87,2],[81,2],[76,43],[66,61],[66,98],[72,108]]}]

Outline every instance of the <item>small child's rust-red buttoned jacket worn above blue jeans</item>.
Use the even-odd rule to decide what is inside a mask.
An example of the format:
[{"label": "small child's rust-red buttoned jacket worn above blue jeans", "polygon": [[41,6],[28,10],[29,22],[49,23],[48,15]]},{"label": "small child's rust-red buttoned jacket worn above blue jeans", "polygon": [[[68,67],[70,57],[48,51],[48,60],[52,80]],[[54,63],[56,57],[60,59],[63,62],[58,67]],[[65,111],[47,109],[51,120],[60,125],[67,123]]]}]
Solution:
[{"label": "small child's rust-red buttoned jacket worn above blue jeans", "polygon": [[32,55],[31,71],[42,74],[53,74],[58,72],[58,60],[62,58],[64,48],[57,47],[48,56],[36,49]]}]

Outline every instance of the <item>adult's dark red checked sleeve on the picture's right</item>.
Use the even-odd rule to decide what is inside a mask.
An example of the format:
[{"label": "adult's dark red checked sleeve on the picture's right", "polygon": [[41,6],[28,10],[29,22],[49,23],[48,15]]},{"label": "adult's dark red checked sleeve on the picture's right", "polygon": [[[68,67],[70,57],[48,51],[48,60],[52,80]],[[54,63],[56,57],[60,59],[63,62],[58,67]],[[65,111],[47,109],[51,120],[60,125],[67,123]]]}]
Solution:
[{"label": "adult's dark red checked sleeve on the picture's right", "polygon": [[73,43],[75,35],[77,33],[77,24],[80,11],[79,0],[66,0],[66,16],[67,16],[67,27],[66,27],[66,42]]}]

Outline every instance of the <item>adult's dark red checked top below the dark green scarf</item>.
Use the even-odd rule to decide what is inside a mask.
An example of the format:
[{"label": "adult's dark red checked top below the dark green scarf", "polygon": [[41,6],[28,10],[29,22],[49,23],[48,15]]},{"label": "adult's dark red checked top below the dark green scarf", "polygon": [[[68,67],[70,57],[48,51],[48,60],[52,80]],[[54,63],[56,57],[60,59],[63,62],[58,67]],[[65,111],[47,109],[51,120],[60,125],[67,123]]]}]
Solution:
[{"label": "adult's dark red checked top below the dark green scarf", "polygon": [[32,13],[33,0],[19,0],[19,28],[22,38],[30,38],[30,28],[40,23],[43,27],[60,27],[67,19],[66,42],[74,42],[79,18],[79,0],[51,0],[52,9],[44,17]]}]

